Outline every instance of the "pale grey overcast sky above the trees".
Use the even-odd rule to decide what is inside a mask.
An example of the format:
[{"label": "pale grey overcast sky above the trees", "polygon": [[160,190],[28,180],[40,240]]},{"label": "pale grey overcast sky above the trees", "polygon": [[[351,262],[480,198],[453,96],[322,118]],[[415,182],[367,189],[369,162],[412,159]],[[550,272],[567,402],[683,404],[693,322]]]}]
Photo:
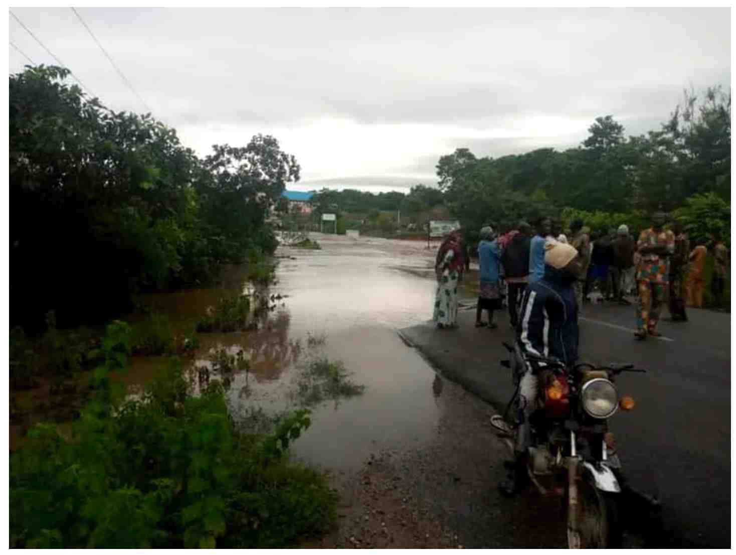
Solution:
[{"label": "pale grey overcast sky above the trees", "polygon": [[[105,105],[146,111],[71,9],[12,10]],[[272,134],[297,157],[300,190],[431,185],[457,147],[564,149],[607,114],[638,135],[683,88],[731,83],[729,8],[77,12],[185,145],[205,156]],[[12,17],[10,41],[55,63]]]}]

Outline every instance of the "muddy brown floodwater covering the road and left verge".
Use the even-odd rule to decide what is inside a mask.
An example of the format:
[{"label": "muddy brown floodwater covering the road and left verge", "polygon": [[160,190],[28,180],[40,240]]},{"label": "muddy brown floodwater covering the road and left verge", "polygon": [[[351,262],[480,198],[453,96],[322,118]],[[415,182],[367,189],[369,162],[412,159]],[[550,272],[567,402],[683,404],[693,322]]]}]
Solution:
[{"label": "muddy brown floodwater covering the road and left verge", "polygon": [[[312,425],[295,442],[292,455],[319,467],[355,470],[376,448],[430,438],[440,417],[432,390],[434,371],[396,333],[431,318],[436,244],[428,248],[425,242],[408,240],[312,237],[322,250],[278,249],[276,282],[262,291],[276,297],[257,330],[198,334],[197,353],[183,362],[192,370],[210,365],[208,358],[216,349],[224,347],[233,355],[244,351],[250,371],[233,379],[228,394],[232,410],[259,406],[280,411],[294,405],[289,393],[297,367],[310,351],[308,338],[324,338],[324,344],[311,349],[313,354],[342,360],[365,391],[314,407]],[[168,315],[175,334],[188,335],[222,296],[252,292],[246,276],[247,268],[232,267],[216,287],[145,296],[141,302]],[[124,319],[138,318],[142,316]],[[136,394],[165,363],[165,357],[133,357],[121,379]],[[50,380],[13,394],[21,416],[11,422],[11,450],[35,422],[54,419],[66,429],[66,419],[83,405],[79,390],[86,380],[79,376],[78,391],[67,396],[49,394]]]}]

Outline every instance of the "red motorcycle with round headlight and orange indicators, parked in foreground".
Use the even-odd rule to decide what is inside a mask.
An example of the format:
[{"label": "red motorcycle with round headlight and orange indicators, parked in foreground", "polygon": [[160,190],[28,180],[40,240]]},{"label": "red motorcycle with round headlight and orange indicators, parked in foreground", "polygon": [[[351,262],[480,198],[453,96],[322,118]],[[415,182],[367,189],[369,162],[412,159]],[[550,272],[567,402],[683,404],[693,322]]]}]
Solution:
[{"label": "red motorcycle with round headlight and orange indicators, parked in foreground", "polygon": [[[502,364],[512,370],[516,391],[504,415],[495,416],[492,424],[503,432],[513,452],[517,434],[522,433],[520,424],[528,417],[527,475],[542,495],[551,492],[564,499],[568,547],[615,547],[622,536],[618,518],[622,488],[607,420],[619,409],[634,408],[634,399],[619,397],[616,377],[645,370],[633,364],[578,363],[567,368],[554,357],[522,354],[518,345],[503,346],[511,360]],[[537,406],[525,411],[520,387],[528,364],[539,368],[538,393]]]}]

